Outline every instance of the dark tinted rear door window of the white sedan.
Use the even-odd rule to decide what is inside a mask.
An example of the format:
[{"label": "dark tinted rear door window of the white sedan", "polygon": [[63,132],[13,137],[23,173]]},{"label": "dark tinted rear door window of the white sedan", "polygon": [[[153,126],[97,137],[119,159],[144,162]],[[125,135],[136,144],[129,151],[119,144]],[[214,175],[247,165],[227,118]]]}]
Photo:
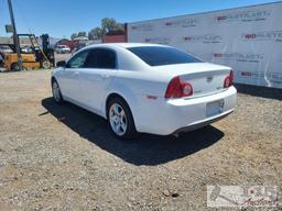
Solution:
[{"label": "dark tinted rear door window of the white sedan", "polygon": [[85,68],[115,69],[117,64],[116,53],[110,49],[91,49],[85,60]]}]

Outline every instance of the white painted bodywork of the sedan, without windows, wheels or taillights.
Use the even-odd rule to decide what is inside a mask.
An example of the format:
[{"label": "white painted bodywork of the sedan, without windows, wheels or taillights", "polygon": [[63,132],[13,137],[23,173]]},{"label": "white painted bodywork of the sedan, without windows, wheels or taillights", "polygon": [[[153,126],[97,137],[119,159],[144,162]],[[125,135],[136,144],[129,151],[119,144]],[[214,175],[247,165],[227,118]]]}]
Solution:
[{"label": "white painted bodywork of the sedan, without windows, wheels or taillights", "polygon": [[[115,51],[118,58],[117,69],[59,67],[53,71],[52,77],[58,81],[65,100],[105,119],[108,97],[111,93],[121,96],[129,104],[138,132],[169,135],[182,129],[203,126],[234,111],[237,91],[235,87],[223,88],[224,79],[230,71],[229,67],[209,63],[151,67],[126,49],[147,45],[161,46],[98,44],[85,47],[82,51],[95,47]],[[165,99],[167,85],[175,76],[189,81],[195,95]],[[213,77],[213,84],[206,80],[209,76]],[[217,103],[220,103],[220,111],[208,114],[208,110],[213,111],[213,104]]]}]

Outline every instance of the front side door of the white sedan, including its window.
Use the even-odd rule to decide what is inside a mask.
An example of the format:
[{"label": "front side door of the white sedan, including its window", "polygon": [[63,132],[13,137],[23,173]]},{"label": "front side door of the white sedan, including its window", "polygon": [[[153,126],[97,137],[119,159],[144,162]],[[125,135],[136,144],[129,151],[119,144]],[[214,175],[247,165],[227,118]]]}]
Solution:
[{"label": "front side door of the white sedan, including its window", "polygon": [[73,56],[66,64],[64,74],[62,76],[62,91],[68,99],[80,102],[80,79],[79,75],[84,68],[85,60],[89,51],[85,49]]}]

